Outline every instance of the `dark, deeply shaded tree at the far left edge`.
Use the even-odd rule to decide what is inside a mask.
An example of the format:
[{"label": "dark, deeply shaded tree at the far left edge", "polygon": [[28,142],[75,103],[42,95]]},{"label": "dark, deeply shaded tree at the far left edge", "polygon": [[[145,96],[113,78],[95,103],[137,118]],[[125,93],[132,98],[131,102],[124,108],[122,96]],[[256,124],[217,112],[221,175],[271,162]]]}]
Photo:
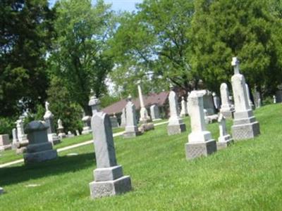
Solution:
[{"label": "dark, deeply shaded tree at the far left edge", "polygon": [[3,0],[0,11],[0,116],[11,117],[47,97],[45,53],[54,13],[46,0]]}]

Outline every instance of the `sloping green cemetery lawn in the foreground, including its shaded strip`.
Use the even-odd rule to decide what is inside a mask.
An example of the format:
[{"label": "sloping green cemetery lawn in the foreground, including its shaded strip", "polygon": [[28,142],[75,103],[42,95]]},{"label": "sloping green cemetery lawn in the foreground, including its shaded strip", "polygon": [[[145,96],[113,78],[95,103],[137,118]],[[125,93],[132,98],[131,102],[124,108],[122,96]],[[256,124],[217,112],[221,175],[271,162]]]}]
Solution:
[{"label": "sloping green cemetery lawn in the foreground, including its shaded strip", "polygon": [[[260,136],[189,162],[188,118],[183,134],[167,136],[164,124],[135,139],[115,137],[118,164],[133,184],[121,196],[90,199],[92,144],[49,162],[2,168],[0,210],[282,210],[282,104],[255,115]],[[208,129],[217,139],[218,125]]]}]

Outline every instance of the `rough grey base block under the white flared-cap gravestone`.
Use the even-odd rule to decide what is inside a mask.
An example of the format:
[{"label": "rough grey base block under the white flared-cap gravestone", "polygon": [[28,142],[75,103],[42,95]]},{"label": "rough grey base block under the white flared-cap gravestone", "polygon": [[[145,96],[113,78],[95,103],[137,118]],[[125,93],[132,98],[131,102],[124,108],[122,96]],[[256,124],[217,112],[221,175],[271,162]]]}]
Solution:
[{"label": "rough grey base block under the white flared-cap gravestone", "polygon": [[216,152],[216,141],[211,139],[202,143],[186,143],[185,150],[187,160],[207,156]]}]

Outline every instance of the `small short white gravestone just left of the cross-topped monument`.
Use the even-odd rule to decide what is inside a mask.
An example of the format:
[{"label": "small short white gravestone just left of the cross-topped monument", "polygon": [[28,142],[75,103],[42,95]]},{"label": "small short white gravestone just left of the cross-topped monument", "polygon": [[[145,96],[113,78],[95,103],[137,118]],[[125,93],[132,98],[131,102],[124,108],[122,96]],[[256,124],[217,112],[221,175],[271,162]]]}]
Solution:
[{"label": "small short white gravestone just left of the cross-topped monument", "polygon": [[219,114],[219,140],[216,143],[217,150],[221,150],[230,146],[233,143],[231,135],[228,134],[226,129],[226,119],[222,113]]}]

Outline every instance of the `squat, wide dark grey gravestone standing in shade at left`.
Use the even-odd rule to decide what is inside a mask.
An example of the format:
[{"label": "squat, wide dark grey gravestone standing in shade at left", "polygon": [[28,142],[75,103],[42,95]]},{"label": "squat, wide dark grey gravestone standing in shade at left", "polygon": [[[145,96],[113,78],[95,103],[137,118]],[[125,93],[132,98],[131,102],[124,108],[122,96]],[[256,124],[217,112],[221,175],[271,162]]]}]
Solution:
[{"label": "squat, wide dark grey gravestone standing in shade at left", "polygon": [[57,151],[52,148],[49,142],[47,129],[49,124],[43,121],[32,121],[25,127],[27,139],[27,153],[23,154],[25,164],[42,162],[57,158]]}]

